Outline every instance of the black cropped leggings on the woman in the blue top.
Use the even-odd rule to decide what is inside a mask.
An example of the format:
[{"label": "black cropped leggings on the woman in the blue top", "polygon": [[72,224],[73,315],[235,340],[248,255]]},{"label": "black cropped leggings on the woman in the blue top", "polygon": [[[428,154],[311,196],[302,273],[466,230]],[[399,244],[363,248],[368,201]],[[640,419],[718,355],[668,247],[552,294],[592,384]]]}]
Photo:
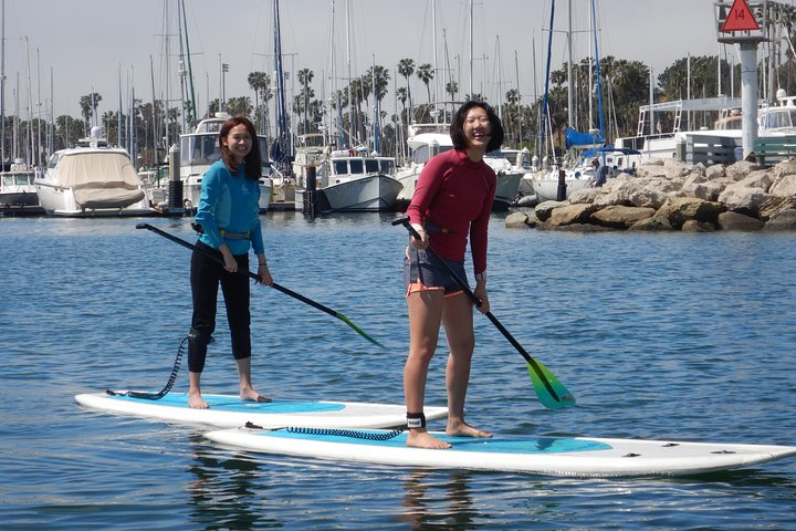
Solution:
[{"label": "black cropped leggings on the woman in the blue top", "polygon": [[[203,252],[222,258],[221,251],[197,241]],[[249,271],[249,254],[235,254],[238,271]],[[223,261],[223,260],[222,260]],[[191,254],[191,295],[193,316],[191,317],[191,340],[188,342],[188,369],[201,373],[205,369],[207,345],[216,330],[218,287],[227,306],[227,321],[232,341],[232,355],[235,360],[251,357],[251,334],[249,313],[249,277],[229,273],[223,266],[206,257],[202,252]]]}]

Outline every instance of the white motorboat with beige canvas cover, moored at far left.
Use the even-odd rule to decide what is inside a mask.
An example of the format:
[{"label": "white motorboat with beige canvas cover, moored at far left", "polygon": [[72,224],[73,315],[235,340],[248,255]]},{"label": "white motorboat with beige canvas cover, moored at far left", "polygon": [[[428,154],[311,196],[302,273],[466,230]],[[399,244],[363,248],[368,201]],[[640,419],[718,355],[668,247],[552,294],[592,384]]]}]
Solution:
[{"label": "white motorboat with beige canvas cover, moored at far left", "polygon": [[42,208],[51,216],[155,214],[129,154],[108,146],[97,126],[75,147],[55,152],[34,185]]}]

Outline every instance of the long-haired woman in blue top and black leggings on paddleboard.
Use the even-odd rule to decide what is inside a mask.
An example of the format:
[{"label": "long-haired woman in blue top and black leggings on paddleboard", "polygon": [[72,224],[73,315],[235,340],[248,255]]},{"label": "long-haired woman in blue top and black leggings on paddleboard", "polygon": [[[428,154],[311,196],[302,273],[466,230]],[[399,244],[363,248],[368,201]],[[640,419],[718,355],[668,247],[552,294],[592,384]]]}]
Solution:
[{"label": "long-haired woman in blue top and black leggings on paddleboard", "polygon": [[[258,258],[259,283],[271,285],[260,226],[260,173],[262,158],[254,125],[245,116],[223,123],[219,133],[221,158],[202,176],[201,196],[196,222],[202,233],[190,264],[193,315],[188,341],[188,405],[209,407],[201,395],[201,373],[208,343],[216,330],[218,288],[221,285],[230,327],[232,355],[238,366],[240,396],[255,402],[271,402],[251,383],[251,315],[249,310],[249,248]],[[223,266],[205,253],[216,254]]]}]

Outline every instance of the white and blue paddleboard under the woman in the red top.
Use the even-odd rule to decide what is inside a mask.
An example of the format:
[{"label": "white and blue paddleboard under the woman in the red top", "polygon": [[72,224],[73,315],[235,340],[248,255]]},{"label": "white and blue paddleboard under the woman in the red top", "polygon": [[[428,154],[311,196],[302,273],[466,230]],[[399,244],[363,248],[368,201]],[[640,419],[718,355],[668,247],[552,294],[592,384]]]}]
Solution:
[{"label": "white and blue paddleboard under the woman in the red top", "polygon": [[495,436],[438,438],[452,448],[408,448],[406,433],[386,440],[385,430],[313,430],[291,428],[224,429],[209,439],[268,454],[379,465],[506,470],[555,476],[611,477],[693,475],[744,467],[796,455],[796,446],[677,442],[636,439]]}]

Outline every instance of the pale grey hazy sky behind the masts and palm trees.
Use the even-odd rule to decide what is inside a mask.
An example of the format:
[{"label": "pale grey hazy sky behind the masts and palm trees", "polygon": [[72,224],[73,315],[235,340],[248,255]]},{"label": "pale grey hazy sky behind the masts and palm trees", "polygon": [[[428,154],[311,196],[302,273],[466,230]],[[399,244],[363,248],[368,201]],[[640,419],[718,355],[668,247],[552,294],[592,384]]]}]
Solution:
[{"label": "pale grey hazy sky behind the masts and palm trees", "polygon": [[[575,59],[590,53],[590,0],[557,0],[552,54],[555,69],[566,61],[564,32],[569,2],[573,29],[577,31],[573,38]],[[179,98],[175,74],[179,52],[177,0],[6,0],[4,3],[7,114],[14,112],[19,97],[23,116],[27,116],[29,101],[34,113],[36,108],[49,112],[52,101],[55,115],[80,116],[80,97],[92,91],[103,97],[101,113],[115,111],[119,77],[125,98],[130,86],[135,87],[136,97],[145,102],[151,101],[154,92],[158,97],[168,94]],[[219,97],[221,62],[229,64],[227,97],[251,96],[248,74],[274,70],[273,1],[185,0],[185,3],[199,113],[205,112],[208,100]],[[348,76],[348,64],[352,75],[357,76],[365,73],[373,61],[394,70],[400,59],[411,58],[417,64],[436,62],[440,79],[447,81],[452,75],[458,79],[462,93],[469,93],[470,3],[437,0],[436,24],[432,3],[432,0],[281,0],[282,52],[291,54],[285,56],[284,70],[312,70],[313,87],[320,97],[328,93],[333,84],[329,80],[332,49],[339,86]],[[598,0],[597,3],[600,56],[639,60],[660,73],[689,53],[714,55],[719,51],[714,0]],[[352,13],[348,32],[345,30],[346,6]],[[544,80],[551,0],[475,0],[473,11],[473,92],[484,93],[496,103],[499,86],[505,93],[519,82],[523,100],[531,101],[534,84],[541,87]],[[395,72],[391,77],[397,77]],[[398,76],[397,83],[404,86],[405,81]],[[390,83],[389,107],[392,88]],[[426,86],[417,77],[411,90],[416,101],[427,100]]]}]

